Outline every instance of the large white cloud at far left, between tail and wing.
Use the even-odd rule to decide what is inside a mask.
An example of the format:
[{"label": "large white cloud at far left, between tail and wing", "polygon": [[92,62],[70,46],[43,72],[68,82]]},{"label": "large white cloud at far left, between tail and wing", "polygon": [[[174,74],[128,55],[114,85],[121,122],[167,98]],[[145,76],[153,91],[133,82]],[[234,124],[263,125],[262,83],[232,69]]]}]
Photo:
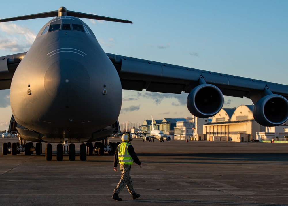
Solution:
[{"label": "large white cloud at far left, between tail and wing", "polygon": [[3,22],[0,24],[0,49],[13,52],[29,50],[36,38],[35,32],[28,27]]}]

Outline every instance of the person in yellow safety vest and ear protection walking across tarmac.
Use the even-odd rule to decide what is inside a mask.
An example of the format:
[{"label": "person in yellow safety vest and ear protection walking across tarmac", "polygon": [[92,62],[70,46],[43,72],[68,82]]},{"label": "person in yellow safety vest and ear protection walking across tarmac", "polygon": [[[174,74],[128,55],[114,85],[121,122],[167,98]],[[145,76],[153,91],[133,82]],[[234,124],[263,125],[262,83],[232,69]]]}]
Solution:
[{"label": "person in yellow safety vest and ear protection walking across tarmac", "polygon": [[121,190],[123,190],[125,185],[127,186],[129,193],[132,194],[133,200],[140,197],[140,194],[137,194],[135,190],[133,189],[130,172],[131,172],[131,166],[133,164],[133,160],[140,167],[143,167],[143,166],[134,151],[134,147],[130,144],[131,140],[132,140],[132,136],[130,132],[124,132],[122,135],[122,143],[118,145],[115,151],[114,170],[117,172],[117,163],[119,162],[120,171],[122,175],[121,175],[121,179],[117,187],[114,189],[114,193],[112,196],[113,200],[122,200],[118,196],[118,194],[120,193]]}]

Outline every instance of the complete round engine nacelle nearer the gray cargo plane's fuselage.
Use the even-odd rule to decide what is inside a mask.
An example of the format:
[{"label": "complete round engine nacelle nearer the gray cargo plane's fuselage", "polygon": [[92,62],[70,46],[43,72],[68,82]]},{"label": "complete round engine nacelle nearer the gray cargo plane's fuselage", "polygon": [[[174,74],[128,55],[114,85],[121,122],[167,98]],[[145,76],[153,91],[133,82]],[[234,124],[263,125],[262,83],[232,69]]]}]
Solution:
[{"label": "complete round engine nacelle nearer the gray cargo plane's fuselage", "polygon": [[196,117],[207,118],[216,115],[224,103],[220,89],[211,84],[195,87],[187,97],[187,108]]}]

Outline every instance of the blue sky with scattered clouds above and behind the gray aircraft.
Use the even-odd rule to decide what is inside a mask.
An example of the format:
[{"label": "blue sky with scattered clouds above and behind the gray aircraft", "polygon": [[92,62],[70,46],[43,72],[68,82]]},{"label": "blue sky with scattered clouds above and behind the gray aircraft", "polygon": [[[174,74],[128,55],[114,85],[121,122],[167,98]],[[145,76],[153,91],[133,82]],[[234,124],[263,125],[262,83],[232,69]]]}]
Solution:
[{"label": "blue sky with scattered clouds above and behind the gray aircraft", "polygon": [[[68,3],[69,2],[69,3]],[[0,18],[67,10],[131,20],[84,20],[107,53],[287,84],[288,1],[14,1]],[[27,51],[50,18],[0,25],[0,56]],[[0,91],[0,129],[12,115]],[[191,117],[187,94],[123,91],[119,122]],[[223,108],[252,104],[225,97]],[[8,122],[8,123],[7,123]]]}]

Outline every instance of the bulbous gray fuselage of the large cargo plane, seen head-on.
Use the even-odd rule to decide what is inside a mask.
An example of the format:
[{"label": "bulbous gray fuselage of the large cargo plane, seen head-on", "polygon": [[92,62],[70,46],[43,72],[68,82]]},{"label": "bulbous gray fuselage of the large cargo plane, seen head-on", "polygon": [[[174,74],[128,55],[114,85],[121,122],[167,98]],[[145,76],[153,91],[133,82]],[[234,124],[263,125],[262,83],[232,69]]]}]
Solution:
[{"label": "bulbous gray fuselage of the large cargo plane, seen head-on", "polygon": [[[52,25],[59,29],[49,31]],[[41,138],[91,138],[117,121],[122,87],[92,30],[60,16],[39,31],[18,65],[10,103],[17,123]]]}]

